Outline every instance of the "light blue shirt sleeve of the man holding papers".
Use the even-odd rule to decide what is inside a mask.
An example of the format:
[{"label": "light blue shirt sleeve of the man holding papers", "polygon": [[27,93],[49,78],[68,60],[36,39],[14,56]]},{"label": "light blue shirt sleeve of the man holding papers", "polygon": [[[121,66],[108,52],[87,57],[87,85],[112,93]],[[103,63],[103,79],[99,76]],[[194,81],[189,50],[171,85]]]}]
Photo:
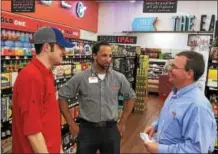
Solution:
[{"label": "light blue shirt sleeve of the man holding papers", "polygon": [[208,153],[214,150],[216,121],[212,111],[192,107],[183,119],[184,142],[172,145],[159,144],[158,153]]}]

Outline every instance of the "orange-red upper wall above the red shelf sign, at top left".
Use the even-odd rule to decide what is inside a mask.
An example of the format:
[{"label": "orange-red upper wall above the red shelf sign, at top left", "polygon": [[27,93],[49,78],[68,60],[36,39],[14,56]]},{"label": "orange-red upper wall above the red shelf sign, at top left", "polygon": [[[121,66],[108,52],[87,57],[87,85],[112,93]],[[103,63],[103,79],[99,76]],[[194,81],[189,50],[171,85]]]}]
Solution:
[{"label": "orange-red upper wall above the red shelf sign, at top left", "polygon": [[[79,1],[66,2],[72,5],[71,9],[61,7],[61,1],[57,0],[53,0],[50,6],[35,1],[34,13],[19,14],[96,33],[98,29],[98,3],[84,1],[83,4],[87,10],[84,17],[79,18],[76,15],[76,4]],[[11,1],[1,1],[1,7],[1,10],[11,12]]]}]

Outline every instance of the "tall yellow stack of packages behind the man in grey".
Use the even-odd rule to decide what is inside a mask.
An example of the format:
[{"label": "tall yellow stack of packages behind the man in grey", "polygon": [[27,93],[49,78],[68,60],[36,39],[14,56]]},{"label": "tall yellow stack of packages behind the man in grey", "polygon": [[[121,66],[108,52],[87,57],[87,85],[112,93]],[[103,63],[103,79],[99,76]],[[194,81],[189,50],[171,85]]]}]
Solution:
[{"label": "tall yellow stack of packages behind the man in grey", "polygon": [[136,112],[143,112],[147,109],[145,104],[147,78],[148,78],[149,57],[147,55],[140,55],[139,68],[137,68],[136,76]]}]

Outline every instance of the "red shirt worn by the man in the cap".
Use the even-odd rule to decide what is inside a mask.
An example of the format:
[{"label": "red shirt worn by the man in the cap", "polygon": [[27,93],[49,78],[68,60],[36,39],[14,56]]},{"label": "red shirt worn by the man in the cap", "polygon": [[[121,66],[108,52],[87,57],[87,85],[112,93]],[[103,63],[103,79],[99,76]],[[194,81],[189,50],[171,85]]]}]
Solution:
[{"label": "red shirt worn by the man in the cap", "polygon": [[60,153],[60,112],[54,77],[36,58],[18,74],[12,113],[13,153],[33,153],[27,136],[39,132],[49,153]]}]

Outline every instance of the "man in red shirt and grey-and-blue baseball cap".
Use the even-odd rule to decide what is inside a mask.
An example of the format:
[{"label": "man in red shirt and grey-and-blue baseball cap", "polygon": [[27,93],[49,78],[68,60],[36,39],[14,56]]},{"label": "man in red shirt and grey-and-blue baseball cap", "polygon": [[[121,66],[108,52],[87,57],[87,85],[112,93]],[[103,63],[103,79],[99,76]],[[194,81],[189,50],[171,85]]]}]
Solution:
[{"label": "man in red shirt and grey-and-blue baseball cap", "polygon": [[72,47],[52,27],[33,36],[36,58],[24,67],[13,88],[13,153],[60,153],[60,112],[52,67],[62,63],[65,47]]}]

